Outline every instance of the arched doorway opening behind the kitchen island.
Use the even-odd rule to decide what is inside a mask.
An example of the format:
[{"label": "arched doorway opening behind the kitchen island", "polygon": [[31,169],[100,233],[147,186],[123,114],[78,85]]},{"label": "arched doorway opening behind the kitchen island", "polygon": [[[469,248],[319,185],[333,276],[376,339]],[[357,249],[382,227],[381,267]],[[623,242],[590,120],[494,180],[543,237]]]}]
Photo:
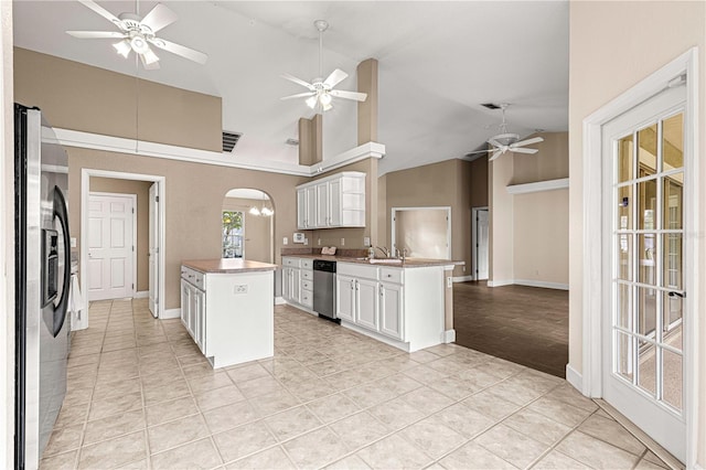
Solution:
[{"label": "arched doorway opening behind the kitchen island", "polygon": [[224,258],[274,263],[275,206],[266,192],[233,189],[223,199],[221,214]]}]

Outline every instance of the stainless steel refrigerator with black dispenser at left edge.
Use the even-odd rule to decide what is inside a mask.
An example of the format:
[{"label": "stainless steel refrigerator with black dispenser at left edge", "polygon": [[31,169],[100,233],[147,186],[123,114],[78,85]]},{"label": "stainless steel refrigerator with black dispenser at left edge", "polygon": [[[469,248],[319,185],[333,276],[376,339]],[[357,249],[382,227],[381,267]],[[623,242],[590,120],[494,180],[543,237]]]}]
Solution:
[{"label": "stainless steel refrigerator with black dispenser at left edge", "polygon": [[66,394],[68,158],[36,108],[14,105],[15,468],[35,469]]}]

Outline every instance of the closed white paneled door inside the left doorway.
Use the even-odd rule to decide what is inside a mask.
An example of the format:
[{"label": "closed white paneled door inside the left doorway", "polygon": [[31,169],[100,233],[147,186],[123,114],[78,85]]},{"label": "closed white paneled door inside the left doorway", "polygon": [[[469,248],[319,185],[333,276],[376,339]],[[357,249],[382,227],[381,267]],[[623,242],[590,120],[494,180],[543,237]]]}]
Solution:
[{"label": "closed white paneled door inside the left doorway", "polygon": [[88,196],[88,300],[135,295],[135,201],[132,194]]}]

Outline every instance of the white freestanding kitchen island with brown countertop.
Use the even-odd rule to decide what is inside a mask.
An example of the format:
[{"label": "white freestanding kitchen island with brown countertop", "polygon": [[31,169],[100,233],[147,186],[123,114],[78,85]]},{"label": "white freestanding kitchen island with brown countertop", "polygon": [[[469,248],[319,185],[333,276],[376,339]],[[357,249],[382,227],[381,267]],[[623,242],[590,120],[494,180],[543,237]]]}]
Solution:
[{"label": "white freestanding kitchen island with brown countertop", "polygon": [[274,355],[274,271],[247,259],[182,261],[181,321],[214,368]]}]

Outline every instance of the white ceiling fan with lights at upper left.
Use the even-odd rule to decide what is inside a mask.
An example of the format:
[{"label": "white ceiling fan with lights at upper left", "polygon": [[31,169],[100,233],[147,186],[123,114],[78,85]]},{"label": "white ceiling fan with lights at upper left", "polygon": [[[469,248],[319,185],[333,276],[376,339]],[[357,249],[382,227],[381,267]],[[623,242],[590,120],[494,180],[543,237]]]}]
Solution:
[{"label": "white ceiling fan with lights at upper left", "polygon": [[147,70],[159,68],[159,57],[150,47],[150,44],[172,54],[205,64],[208,56],[203,52],[194,51],[180,44],[157,38],[161,29],[178,20],[176,13],[161,3],[158,3],[145,18],[139,15],[139,3],[136,1],[136,13],[120,13],[118,17],[92,0],[78,0],[106,20],[115,24],[120,31],[66,31],[79,39],[117,39],[113,46],[118,54],[128,58],[130,51],[139,55],[142,65]]}]

